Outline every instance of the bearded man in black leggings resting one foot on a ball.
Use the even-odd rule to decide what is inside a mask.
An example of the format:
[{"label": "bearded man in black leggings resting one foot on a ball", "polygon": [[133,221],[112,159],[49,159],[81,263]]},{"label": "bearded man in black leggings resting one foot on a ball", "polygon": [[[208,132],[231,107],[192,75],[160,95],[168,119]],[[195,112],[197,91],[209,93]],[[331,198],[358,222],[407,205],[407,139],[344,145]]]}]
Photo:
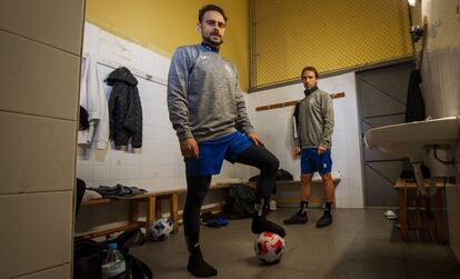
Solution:
[{"label": "bearded man in black leggings resting one foot on a ball", "polygon": [[218,175],[223,159],[260,169],[252,232],[271,231],[286,236],[284,229],[266,219],[274,186],[278,159],[254,133],[233,63],[219,54],[227,18],[220,7],[200,9],[197,29],[202,42],[179,47],[168,76],[169,116],[179,138],[187,175],[183,229],[189,249],[188,270],[197,277],[211,277],[217,270],[204,261],[200,245],[200,209],[211,176]]}]

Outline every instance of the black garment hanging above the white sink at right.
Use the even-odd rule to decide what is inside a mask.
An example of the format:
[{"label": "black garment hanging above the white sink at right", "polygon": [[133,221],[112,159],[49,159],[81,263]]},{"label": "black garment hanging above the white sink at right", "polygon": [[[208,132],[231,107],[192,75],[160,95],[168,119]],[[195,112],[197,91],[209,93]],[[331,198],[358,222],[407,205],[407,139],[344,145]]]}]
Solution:
[{"label": "black garment hanging above the white sink at right", "polygon": [[421,121],[426,119],[424,101],[420,88],[420,71],[414,69],[410,72],[408,99],[406,102],[406,122]]}]

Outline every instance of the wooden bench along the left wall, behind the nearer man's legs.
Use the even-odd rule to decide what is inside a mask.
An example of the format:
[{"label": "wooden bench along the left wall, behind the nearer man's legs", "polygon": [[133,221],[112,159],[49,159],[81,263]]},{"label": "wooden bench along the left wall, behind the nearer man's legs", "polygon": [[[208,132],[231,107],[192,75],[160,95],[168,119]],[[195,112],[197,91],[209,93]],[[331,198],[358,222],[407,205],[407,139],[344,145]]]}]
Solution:
[{"label": "wooden bench along the left wall, behind the nearer man's legs", "polygon": [[[227,189],[231,183],[217,183],[212,185],[210,190]],[[129,199],[94,199],[83,201],[82,207],[107,205],[109,202],[129,202],[129,222],[123,226],[118,226],[110,229],[89,231],[79,235],[81,238],[98,238],[109,236],[114,232],[126,231],[134,228],[144,228],[146,235],[150,236],[150,225],[160,217],[161,213],[161,200],[167,199],[169,202],[170,218],[174,225],[174,231],[178,230],[179,220],[182,218],[179,215],[179,196],[184,195],[186,189],[159,191],[159,192],[146,192],[131,197]],[[143,207],[146,211],[146,221],[140,221],[140,209]],[[219,210],[220,208],[211,208],[207,210]]]}]

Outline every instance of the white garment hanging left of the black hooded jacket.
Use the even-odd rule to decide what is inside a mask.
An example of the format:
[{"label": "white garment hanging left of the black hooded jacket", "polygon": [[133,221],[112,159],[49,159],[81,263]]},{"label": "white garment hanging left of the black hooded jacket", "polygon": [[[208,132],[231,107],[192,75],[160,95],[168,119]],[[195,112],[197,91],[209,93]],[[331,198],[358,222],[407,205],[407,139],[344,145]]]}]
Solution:
[{"label": "white garment hanging left of the black hooded jacket", "polygon": [[97,62],[91,57],[82,59],[80,106],[88,112],[89,128],[79,131],[78,143],[107,149],[109,142],[109,107]]}]

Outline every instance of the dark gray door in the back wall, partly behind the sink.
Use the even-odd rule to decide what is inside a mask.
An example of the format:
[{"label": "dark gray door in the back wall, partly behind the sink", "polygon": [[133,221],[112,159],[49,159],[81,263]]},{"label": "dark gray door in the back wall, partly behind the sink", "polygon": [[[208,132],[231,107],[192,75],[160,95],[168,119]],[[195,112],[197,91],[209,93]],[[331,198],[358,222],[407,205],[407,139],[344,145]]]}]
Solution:
[{"label": "dark gray door in the back wall, partly behind the sink", "polygon": [[[413,62],[403,62],[357,72],[357,92],[361,134],[376,127],[404,122],[406,99]],[[366,207],[398,205],[393,185],[409,161],[368,149],[361,137]]]}]

